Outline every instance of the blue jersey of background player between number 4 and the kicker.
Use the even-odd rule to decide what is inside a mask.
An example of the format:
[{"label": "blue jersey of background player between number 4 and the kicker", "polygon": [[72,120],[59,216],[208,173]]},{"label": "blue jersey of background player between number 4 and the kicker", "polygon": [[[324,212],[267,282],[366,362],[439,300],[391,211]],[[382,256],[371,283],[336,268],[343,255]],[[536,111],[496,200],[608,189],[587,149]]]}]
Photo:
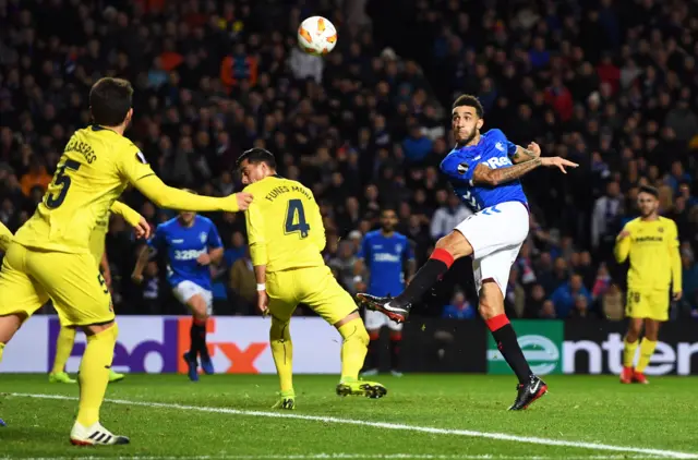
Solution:
[{"label": "blue jersey of background player between number 4 and the kicker", "polygon": [[385,296],[402,292],[405,289],[402,263],[414,258],[407,237],[398,232],[393,232],[392,237],[385,237],[381,230],[369,232],[361,243],[358,256],[363,258],[371,271],[370,294]]}]

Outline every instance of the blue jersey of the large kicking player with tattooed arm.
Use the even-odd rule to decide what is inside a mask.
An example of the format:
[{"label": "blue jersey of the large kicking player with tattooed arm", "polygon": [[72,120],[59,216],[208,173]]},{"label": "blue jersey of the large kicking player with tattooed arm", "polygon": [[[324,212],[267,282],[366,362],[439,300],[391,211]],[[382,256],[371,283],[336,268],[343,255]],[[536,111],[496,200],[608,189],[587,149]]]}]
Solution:
[{"label": "blue jersey of the large kicking player with tattooed arm", "polygon": [[490,169],[510,167],[509,156],[516,154],[516,144],[510,143],[501,130],[490,130],[480,135],[478,145],[456,146],[441,162],[441,170],[456,194],[474,213],[505,202],[527,204],[526,194],[519,180],[489,186],[472,183],[472,174],[478,164]]}]

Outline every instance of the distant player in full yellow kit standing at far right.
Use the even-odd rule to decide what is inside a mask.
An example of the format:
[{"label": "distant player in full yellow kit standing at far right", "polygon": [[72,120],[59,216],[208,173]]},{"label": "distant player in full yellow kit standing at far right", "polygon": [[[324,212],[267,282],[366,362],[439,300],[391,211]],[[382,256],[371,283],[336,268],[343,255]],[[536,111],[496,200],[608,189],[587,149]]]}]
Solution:
[{"label": "distant player in full yellow kit standing at far right", "polygon": [[[660,217],[659,191],[641,186],[637,197],[640,217],[630,220],[616,238],[615,258],[630,257],[626,316],[630,319],[623,350],[622,384],[648,384],[645,368],[654,353],[660,323],[669,319],[670,288],[672,299],[682,296],[682,267],[678,231],[673,220]],[[640,332],[640,359],[635,368],[635,352]]]}]

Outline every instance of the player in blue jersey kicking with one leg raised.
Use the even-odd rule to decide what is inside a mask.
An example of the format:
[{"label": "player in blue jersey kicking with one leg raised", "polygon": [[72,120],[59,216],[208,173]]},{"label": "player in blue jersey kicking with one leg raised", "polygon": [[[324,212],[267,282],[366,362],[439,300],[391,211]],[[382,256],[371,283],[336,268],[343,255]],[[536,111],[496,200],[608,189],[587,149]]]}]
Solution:
[{"label": "player in blue jersey kicking with one leg raised", "polygon": [[480,133],[482,117],[482,105],[474,96],[456,99],[452,128],[457,145],[441,164],[456,194],[474,214],[436,242],[430,259],[402,293],[396,298],[359,293],[358,298],[368,308],[404,322],[412,304],[441,279],[455,259],[472,255],[480,315],[519,379],[518,395],[509,410],[521,410],[542,397],[547,386],[531,372],[504,313],[509,270],[529,230],[528,202],[519,178],[539,166],[566,173],[565,168],[578,165],[561,157],[541,157],[535,143],[524,148],[507,141],[496,129]]}]

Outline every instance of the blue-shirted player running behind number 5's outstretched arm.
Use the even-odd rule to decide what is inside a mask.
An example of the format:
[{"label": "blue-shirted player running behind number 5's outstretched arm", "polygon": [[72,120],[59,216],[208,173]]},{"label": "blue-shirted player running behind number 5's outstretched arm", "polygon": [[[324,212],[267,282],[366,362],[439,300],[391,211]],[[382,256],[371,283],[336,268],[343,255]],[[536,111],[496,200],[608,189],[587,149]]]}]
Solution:
[{"label": "blue-shirted player running behind number 5's outstretched arm", "polygon": [[[186,190],[190,193],[190,190]],[[177,300],[192,313],[191,347],[182,356],[189,366],[189,378],[198,380],[198,359],[206,374],[214,366],[206,347],[206,322],[213,313],[210,264],[222,258],[224,247],[218,229],[210,219],[196,213],[182,211],[157,226],[155,235],[139,256],[132,278],[140,283],[148,259],[157,253],[167,255],[167,280]]]}]

